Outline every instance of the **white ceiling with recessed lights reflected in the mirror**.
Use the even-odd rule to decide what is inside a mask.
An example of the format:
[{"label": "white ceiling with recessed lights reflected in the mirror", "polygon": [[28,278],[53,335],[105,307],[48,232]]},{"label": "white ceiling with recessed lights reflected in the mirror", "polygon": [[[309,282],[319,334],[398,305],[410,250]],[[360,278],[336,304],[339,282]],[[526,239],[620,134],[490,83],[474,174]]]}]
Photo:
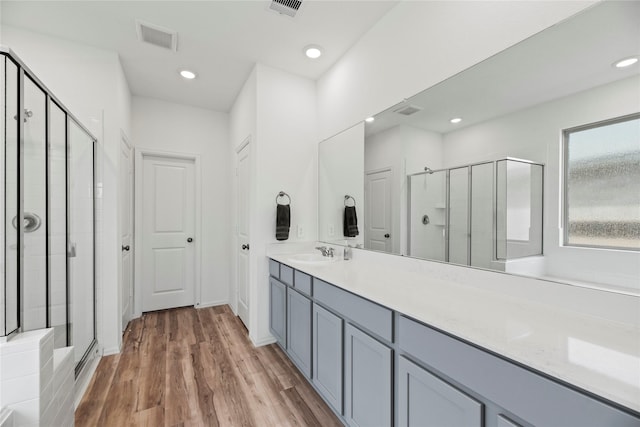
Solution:
[{"label": "white ceiling with recessed lights reflected in the mirror", "polygon": [[[638,76],[640,63],[625,69],[612,64],[640,55],[639,19],[638,1],[600,3],[376,115],[366,134],[399,124],[445,134]],[[405,105],[422,110],[394,112]],[[463,121],[451,124],[454,117]]]}]

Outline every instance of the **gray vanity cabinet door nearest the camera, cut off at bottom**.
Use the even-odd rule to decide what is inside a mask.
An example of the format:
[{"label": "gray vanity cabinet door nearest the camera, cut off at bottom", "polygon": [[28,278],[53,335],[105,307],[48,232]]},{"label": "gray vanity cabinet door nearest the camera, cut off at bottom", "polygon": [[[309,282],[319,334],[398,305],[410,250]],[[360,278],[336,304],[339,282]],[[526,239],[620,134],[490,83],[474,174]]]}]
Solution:
[{"label": "gray vanity cabinet door nearest the camera, cut off at bottom", "polygon": [[400,357],[400,427],[481,427],[482,404]]}]

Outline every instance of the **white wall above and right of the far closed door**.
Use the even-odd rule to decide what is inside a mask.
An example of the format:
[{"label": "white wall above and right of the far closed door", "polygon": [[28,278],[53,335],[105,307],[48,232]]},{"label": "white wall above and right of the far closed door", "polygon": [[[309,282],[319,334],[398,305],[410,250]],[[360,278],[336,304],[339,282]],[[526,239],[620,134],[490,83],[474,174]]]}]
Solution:
[{"label": "white wall above and right of the far closed door", "polygon": [[[229,300],[231,211],[228,176],[228,120],[226,113],[134,97],[133,141],[136,149],[195,154],[201,170],[201,245],[198,306]],[[196,275],[197,276],[197,275]],[[198,295],[198,292],[196,292]]]}]

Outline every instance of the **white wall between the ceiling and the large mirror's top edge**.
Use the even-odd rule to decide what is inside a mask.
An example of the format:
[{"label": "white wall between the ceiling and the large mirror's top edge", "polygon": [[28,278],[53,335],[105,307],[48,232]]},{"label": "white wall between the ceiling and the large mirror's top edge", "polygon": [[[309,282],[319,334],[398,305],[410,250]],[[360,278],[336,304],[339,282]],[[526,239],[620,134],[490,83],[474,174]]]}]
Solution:
[{"label": "white wall between the ceiling and the large mirror's top edge", "polygon": [[594,3],[400,2],[318,81],[320,139]]}]

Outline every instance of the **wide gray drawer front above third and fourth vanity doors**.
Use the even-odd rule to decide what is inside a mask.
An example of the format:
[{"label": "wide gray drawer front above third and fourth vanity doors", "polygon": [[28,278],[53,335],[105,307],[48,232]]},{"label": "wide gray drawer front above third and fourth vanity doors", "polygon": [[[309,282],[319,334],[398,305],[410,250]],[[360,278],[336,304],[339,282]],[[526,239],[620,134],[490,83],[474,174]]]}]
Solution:
[{"label": "wide gray drawer front above third and fourth vanity doors", "polygon": [[322,280],[313,279],[313,295],[316,301],[350,318],[360,326],[393,341],[393,312]]}]

